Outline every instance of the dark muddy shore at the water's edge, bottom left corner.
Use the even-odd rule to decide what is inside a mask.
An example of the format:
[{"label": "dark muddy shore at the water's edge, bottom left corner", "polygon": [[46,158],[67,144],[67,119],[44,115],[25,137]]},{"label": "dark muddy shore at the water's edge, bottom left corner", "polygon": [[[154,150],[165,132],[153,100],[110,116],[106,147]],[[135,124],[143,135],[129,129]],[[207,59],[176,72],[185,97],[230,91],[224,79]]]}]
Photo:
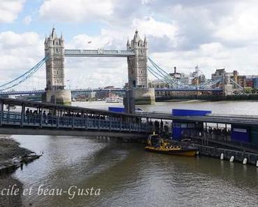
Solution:
[{"label": "dark muddy shore at the water's edge, bottom left corner", "polygon": [[15,186],[15,189],[22,190],[22,183],[13,178],[12,174],[23,163],[31,162],[36,158],[39,158],[39,156],[26,148],[20,147],[20,144],[11,139],[10,136],[0,135],[0,207],[22,206],[21,194],[2,195],[1,190],[12,186]]}]

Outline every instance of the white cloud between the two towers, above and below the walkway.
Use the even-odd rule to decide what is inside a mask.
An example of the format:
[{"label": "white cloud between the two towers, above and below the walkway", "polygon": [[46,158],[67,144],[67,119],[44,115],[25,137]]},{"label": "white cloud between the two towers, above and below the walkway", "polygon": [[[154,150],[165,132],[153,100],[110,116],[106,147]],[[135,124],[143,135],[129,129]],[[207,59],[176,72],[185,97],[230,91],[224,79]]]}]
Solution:
[{"label": "white cloud between the two towers, above and below the walkway", "polygon": [[[80,34],[74,36],[66,48],[71,49],[114,49],[116,40],[112,34],[103,31],[100,36]],[[90,43],[89,43],[90,42]],[[126,40],[123,49],[126,48]],[[78,75],[80,74],[80,75]],[[71,85],[78,88],[98,88],[100,86],[123,86],[127,82],[126,58],[66,57],[66,77]]]}]

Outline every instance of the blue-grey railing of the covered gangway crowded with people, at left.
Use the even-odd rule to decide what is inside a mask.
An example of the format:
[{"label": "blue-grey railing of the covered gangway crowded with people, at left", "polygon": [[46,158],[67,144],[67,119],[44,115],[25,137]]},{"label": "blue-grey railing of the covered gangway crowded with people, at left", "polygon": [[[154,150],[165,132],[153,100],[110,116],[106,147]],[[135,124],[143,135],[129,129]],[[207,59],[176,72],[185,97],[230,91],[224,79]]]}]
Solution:
[{"label": "blue-grey railing of the covered gangway crowded with people, at left", "polygon": [[0,112],[0,127],[31,127],[31,128],[63,128],[85,130],[112,130],[120,132],[151,132],[148,123],[128,123],[122,119],[102,117],[54,116],[45,114],[22,114],[19,112]]}]

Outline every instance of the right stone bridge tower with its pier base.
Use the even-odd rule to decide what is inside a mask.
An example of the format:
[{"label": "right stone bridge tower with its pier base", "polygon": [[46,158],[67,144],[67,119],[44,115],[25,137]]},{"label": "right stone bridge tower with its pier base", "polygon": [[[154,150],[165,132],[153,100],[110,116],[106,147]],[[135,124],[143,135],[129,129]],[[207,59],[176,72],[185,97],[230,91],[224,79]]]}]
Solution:
[{"label": "right stone bridge tower with its pier base", "polygon": [[127,50],[133,50],[135,56],[128,56],[128,86],[132,91],[132,98],[135,104],[145,105],[155,102],[154,89],[148,86],[148,43],[146,37],[144,41],[139,37],[138,31],[135,31],[133,39],[126,44]]}]

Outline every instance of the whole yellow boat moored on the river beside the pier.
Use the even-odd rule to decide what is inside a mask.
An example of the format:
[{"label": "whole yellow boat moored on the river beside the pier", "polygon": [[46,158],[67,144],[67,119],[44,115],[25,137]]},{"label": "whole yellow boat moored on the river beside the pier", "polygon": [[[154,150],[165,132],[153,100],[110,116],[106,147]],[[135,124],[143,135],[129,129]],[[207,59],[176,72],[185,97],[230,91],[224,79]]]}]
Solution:
[{"label": "whole yellow boat moored on the river beside the pier", "polygon": [[[188,139],[189,141],[189,139]],[[198,148],[182,144],[174,145],[168,140],[162,139],[159,135],[150,135],[146,151],[155,153],[164,153],[170,155],[195,156],[198,153]]]}]

